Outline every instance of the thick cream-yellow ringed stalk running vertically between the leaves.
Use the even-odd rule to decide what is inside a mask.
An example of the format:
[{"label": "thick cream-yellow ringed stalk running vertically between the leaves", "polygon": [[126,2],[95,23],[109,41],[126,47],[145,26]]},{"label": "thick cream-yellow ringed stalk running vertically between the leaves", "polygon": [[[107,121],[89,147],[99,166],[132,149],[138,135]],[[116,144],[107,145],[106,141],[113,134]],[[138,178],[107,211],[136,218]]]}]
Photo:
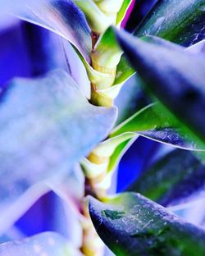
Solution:
[{"label": "thick cream-yellow ringed stalk running vertically between the leaves", "polygon": [[[116,38],[112,30],[107,28],[109,25],[116,24],[116,14],[120,10],[123,0],[79,1],[76,3],[84,11],[90,28],[93,30],[91,34],[93,42],[93,52],[91,53],[92,67],[105,77],[98,84],[90,83],[90,103],[96,106],[112,107],[114,104],[113,99],[105,97],[105,94],[100,94],[99,90],[109,89],[113,85],[116,77],[116,66],[120,62],[121,50],[118,47],[113,48],[113,45],[117,45],[115,42]],[[111,10],[112,12],[110,12]],[[103,35],[99,39],[101,34]],[[112,45],[107,44],[107,39],[112,39]],[[84,195],[92,194],[96,198],[101,199],[107,194],[107,186],[103,186],[103,181],[107,176],[109,158],[101,158],[91,152],[87,160],[90,165],[93,164],[93,167],[98,168],[99,175],[87,177]],[[93,228],[86,203],[82,203],[82,208],[84,209],[83,214],[87,225],[83,225],[83,244],[81,251],[87,256],[103,256],[103,244]]]}]

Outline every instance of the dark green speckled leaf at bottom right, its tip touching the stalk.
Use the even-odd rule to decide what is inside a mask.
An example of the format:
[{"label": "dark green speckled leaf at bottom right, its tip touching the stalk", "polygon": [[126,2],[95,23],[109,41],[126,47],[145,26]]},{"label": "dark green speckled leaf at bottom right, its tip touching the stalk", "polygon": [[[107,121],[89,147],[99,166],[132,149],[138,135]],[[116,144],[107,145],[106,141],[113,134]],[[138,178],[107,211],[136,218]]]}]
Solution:
[{"label": "dark green speckled leaf at bottom right, its tip touching the stalk", "polygon": [[89,214],[103,242],[119,256],[205,254],[205,232],[140,194],[104,203],[89,199]]}]

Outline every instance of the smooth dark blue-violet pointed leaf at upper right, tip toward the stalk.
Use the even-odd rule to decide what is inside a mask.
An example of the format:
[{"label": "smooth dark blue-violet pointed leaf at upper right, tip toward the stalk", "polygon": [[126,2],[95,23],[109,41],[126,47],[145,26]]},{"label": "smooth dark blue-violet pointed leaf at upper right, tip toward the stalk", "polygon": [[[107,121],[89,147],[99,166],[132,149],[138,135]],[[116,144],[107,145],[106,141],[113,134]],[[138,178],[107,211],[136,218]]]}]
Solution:
[{"label": "smooth dark blue-violet pointed leaf at upper right, tip toward the stalk", "polygon": [[204,58],[116,33],[144,85],[204,141]]}]

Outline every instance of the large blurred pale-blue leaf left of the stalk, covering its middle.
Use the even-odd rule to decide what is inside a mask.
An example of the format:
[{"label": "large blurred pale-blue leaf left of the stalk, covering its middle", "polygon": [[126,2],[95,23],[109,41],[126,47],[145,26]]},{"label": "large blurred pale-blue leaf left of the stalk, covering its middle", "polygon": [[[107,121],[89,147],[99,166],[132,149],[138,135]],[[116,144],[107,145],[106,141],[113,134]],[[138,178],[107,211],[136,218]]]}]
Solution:
[{"label": "large blurred pale-blue leaf left of the stalk, covering its middle", "polygon": [[61,180],[107,136],[115,120],[115,107],[89,104],[64,71],[13,80],[0,107],[0,232],[36,199],[37,188],[22,195],[31,185]]}]

